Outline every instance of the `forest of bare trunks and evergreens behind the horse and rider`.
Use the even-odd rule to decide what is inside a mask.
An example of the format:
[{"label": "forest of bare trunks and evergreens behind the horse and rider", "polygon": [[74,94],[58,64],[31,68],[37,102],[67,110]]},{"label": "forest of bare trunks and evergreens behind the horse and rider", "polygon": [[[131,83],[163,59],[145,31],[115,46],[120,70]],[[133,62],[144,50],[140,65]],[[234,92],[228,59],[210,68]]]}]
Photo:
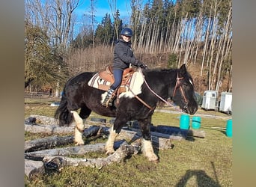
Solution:
[{"label": "forest of bare trunks and evergreens behind the horse and rider", "polygon": [[97,23],[91,0],[75,29],[82,0],[25,0],[25,91],[59,96],[71,76],[103,70],[124,27],[132,28],[132,49],[149,68],[194,66],[194,82],[232,91],[231,0],[132,0],[128,21],[108,2],[112,13]]}]

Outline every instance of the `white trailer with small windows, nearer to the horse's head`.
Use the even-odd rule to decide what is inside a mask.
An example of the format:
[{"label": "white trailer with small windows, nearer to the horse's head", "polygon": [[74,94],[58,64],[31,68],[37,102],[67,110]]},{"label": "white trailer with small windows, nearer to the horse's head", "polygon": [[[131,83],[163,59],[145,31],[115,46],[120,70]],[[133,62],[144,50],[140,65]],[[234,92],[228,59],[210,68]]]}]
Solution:
[{"label": "white trailer with small windows, nearer to the horse's head", "polygon": [[203,103],[201,105],[201,108],[204,108],[205,110],[216,110],[217,99],[217,91],[204,91]]}]

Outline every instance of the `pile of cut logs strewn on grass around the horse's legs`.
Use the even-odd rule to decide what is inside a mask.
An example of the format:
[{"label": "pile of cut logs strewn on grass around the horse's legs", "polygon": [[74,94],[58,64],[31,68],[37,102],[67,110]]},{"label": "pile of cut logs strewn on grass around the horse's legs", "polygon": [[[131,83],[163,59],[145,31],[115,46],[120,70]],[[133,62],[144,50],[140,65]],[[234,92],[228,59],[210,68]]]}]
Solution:
[{"label": "pile of cut logs strewn on grass around the horse's legs", "polygon": [[[38,119],[42,124],[37,123]],[[35,174],[43,174],[46,170],[61,170],[65,166],[83,165],[102,168],[112,162],[123,162],[127,156],[141,152],[141,132],[138,129],[138,124],[134,123],[121,130],[114,144],[115,153],[104,158],[88,159],[81,157],[91,152],[105,153],[105,143],[65,147],[68,144],[73,144],[74,126],[60,127],[49,117],[45,118],[47,122],[54,121],[54,123],[45,124],[43,119],[43,116],[31,116],[25,120],[25,132],[52,135],[48,138],[25,141],[25,175],[28,178]],[[151,126],[150,130],[153,147],[158,150],[171,149],[174,147],[172,141],[181,141],[186,139],[187,136],[205,137],[204,131],[180,129],[174,126]],[[83,132],[85,138],[96,139],[108,135],[109,127],[103,123],[97,125],[85,124]],[[74,156],[80,158],[73,158]]]}]

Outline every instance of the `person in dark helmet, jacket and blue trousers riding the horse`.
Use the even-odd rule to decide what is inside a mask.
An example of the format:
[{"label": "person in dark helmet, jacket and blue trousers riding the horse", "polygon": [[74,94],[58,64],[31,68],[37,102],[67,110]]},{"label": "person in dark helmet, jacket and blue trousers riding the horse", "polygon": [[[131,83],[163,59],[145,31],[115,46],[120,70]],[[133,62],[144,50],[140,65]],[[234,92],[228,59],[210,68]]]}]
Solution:
[{"label": "person in dark helmet, jacket and blue trousers riding the horse", "polygon": [[121,85],[123,71],[129,67],[129,64],[141,68],[147,67],[146,64],[141,63],[134,57],[131,48],[131,37],[132,30],[130,28],[124,28],[121,31],[121,39],[115,45],[113,64],[115,82],[110,86],[109,91],[107,92],[107,95],[102,103],[104,106],[107,106],[108,101],[109,106],[113,105],[112,102],[115,98],[112,96],[112,93],[114,93],[115,89]]}]

